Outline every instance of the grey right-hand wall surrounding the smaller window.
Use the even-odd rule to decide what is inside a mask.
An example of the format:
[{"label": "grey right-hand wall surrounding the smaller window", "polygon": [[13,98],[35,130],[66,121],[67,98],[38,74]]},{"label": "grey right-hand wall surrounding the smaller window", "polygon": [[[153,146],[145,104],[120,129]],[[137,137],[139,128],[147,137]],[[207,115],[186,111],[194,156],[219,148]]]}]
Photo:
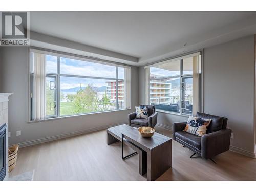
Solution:
[{"label": "grey right-hand wall surrounding the smaller window", "polygon": [[[228,118],[234,139],[230,145],[254,154],[254,36],[204,50],[204,112]],[[139,82],[145,70],[139,68]],[[143,91],[142,91],[143,90]],[[139,83],[139,103],[145,102],[145,84]],[[171,127],[187,117],[159,113],[158,123]]]}]

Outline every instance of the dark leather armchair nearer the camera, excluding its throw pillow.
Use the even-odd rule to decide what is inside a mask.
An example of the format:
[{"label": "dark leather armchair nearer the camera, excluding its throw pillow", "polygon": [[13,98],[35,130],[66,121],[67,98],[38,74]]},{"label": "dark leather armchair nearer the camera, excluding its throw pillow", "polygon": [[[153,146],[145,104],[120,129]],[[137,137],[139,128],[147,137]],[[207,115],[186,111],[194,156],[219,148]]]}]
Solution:
[{"label": "dark leather armchair nearer the camera, excluding its throw pillow", "polygon": [[[195,152],[190,156],[199,154],[204,159],[229,150],[231,130],[227,129],[227,118],[197,112],[197,117],[212,119],[206,134],[202,137],[183,132],[186,122],[173,123],[173,139]],[[212,159],[211,159],[212,160]],[[212,160],[215,162],[214,160]]]}]

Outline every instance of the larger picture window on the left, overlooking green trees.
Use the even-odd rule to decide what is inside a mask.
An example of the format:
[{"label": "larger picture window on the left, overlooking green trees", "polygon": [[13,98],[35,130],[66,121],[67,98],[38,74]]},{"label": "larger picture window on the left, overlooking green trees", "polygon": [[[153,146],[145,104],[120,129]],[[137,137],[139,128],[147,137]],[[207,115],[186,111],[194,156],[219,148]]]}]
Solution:
[{"label": "larger picture window on the left, overlooking green trees", "polygon": [[130,67],[31,51],[31,120],[130,108]]}]

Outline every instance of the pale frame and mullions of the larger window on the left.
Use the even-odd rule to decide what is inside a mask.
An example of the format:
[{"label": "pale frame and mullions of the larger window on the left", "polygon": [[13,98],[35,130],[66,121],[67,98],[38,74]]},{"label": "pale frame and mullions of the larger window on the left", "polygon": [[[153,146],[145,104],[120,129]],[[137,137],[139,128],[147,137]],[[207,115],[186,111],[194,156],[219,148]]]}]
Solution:
[{"label": "pale frame and mullions of the larger window on the left", "polygon": [[[29,63],[30,63],[30,67],[29,67],[29,121],[34,121],[33,119],[33,75],[34,72],[31,71],[31,69],[33,69],[32,67],[32,61],[33,61],[33,54],[34,52],[39,52],[45,55],[51,55],[51,56],[56,56],[57,57],[57,73],[47,73],[46,72],[46,77],[48,76],[55,76],[56,77],[56,88],[57,91],[55,91],[55,98],[57,99],[56,105],[57,105],[57,110],[56,110],[56,115],[46,115],[45,120],[49,120],[49,119],[54,119],[54,118],[62,118],[62,117],[71,117],[71,116],[77,116],[77,115],[86,115],[86,114],[92,114],[92,113],[101,113],[101,112],[108,112],[108,111],[119,111],[119,110],[125,110],[125,109],[130,109],[130,103],[131,103],[131,91],[129,89],[129,108],[123,108],[123,109],[118,109],[118,81],[123,81],[125,82],[125,77],[123,77],[123,79],[119,79],[118,78],[118,67],[120,68],[127,68],[129,70],[131,70],[130,66],[127,65],[122,65],[122,63],[116,63],[116,62],[112,62],[112,61],[106,61],[106,60],[102,60],[102,59],[92,59],[92,58],[88,58],[86,56],[80,56],[80,55],[73,55],[73,54],[69,54],[69,53],[63,53],[63,52],[50,52],[50,51],[45,51],[45,50],[41,50],[41,49],[30,49],[29,50]],[[107,66],[115,66],[115,70],[116,70],[116,78],[108,78],[108,77],[94,77],[94,76],[83,76],[83,75],[70,75],[70,74],[61,74],[60,73],[60,58],[68,58],[68,59],[75,59],[75,60],[80,60],[80,61],[88,61],[88,62],[93,62],[93,63],[99,63],[102,65],[107,65]],[[129,75],[131,78],[131,72],[129,72]],[[113,80],[116,82],[117,86],[116,86],[116,106],[115,109],[111,109],[111,110],[105,110],[105,111],[93,111],[93,112],[89,112],[89,113],[78,113],[78,114],[72,114],[72,115],[60,115],[60,77],[77,77],[77,78],[87,78],[87,79],[102,79],[102,80]],[[129,87],[131,86],[131,82],[129,81]]]}]

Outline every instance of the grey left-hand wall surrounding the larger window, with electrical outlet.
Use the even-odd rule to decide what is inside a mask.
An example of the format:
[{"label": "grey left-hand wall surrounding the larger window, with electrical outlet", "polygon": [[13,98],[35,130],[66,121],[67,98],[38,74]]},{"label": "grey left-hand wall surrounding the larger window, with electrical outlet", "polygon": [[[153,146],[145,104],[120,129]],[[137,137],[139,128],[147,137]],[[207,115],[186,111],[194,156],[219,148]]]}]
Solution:
[{"label": "grey left-hand wall surrounding the larger window, with electrical outlet", "polygon": [[[103,112],[56,120],[27,123],[28,121],[28,77],[29,49],[27,47],[0,48],[0,92],[13,92],[9,101],[9,144],[24,143],[70,133],[82,133],[104,129],[115,124],[126,123],[127,114],[138,105],[138,68],[131,69],[131,109]],[[22,135],[16,136],[21,130]]]}]

